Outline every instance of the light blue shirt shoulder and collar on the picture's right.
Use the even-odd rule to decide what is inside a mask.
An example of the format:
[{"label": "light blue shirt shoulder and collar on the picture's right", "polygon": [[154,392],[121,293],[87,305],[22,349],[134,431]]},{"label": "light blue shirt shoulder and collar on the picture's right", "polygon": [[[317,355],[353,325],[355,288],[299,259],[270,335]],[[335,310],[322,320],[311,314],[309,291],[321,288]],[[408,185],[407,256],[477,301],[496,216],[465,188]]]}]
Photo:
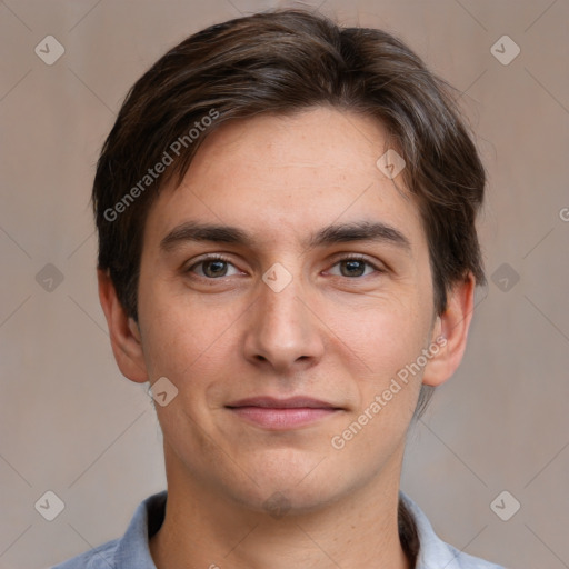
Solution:
[{"label": "light blue shirt shoulder and collar on the picture's right", "polygon": [[459,551],[442,541],[435,533],[430,521],[419,506],[403,492],[400,492],[400,499],[412,517],[419,538],[416,569],[432,569],[435,567],[446,567],[446,569],[505,569],[499,565]]}]

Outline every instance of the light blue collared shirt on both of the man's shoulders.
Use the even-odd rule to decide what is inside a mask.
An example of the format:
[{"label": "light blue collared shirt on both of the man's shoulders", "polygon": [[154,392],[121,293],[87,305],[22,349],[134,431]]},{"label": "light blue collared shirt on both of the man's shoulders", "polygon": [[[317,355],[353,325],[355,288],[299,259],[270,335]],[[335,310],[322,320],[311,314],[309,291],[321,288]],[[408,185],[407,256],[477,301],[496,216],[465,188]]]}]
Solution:
[{"label": "light blue collared shirt on both of the man's shoulders", "polygon": [[[124,536],[109,541],[51,569],[157,569],[150,555],[149,536],[164,519],[167,492],[147,498],[134,512]],[[441,541],[427,516],[403,492],[400,498],[411,513],[419,536],[419,555],[415,569],[505,569],[462,553]]]}]

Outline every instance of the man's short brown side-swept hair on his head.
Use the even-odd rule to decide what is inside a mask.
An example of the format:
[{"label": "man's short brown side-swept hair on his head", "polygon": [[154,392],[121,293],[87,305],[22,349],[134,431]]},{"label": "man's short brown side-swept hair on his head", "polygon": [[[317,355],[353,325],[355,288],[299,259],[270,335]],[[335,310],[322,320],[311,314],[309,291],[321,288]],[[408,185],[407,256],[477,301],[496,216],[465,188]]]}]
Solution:
[{"label": "man's short brown side-swept hair on his head", "polygon": [[[442,313],[455,282],[469,272],[486,281],[475,227],[485,170],[451,92],[392,34],[309,11],[257,13],[190,36],[137,81],[104,142],[92,192],[99,268],[138,320],[143,228],[160,189],[181,181],[200,143],[224,122],[326,104],[379,120],[402,154]],[[172,163],[154,181],[148,172],[167,154]]]}]

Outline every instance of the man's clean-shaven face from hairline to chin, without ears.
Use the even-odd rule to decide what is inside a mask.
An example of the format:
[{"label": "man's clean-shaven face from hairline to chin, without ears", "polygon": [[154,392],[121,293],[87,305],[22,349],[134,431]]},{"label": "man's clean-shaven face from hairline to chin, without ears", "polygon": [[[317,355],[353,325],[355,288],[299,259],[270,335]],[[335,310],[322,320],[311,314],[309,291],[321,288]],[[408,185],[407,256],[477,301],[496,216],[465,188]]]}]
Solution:
[{"label": "man's clean-shaven face from hairline to chin, without ears", "polygon": [[172,479],[298,510],[398,479],[437,333],[417,204],[376,166],[388,148],[325,108],[232,122],[152,206],[139,329],[148,378],[178,389],[156,406]]}]

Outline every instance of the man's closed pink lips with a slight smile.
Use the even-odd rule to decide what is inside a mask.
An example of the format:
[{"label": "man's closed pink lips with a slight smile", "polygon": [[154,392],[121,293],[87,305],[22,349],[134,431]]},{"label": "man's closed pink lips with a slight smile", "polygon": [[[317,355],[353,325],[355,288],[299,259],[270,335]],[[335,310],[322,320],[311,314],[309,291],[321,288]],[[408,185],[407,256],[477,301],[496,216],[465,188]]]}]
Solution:
[{"label": "man's closed pink lips with a slight smile", "polygon": [[308,397],[253,397],[226,406],[240,419],[269,430],[288,430],[332,417],[343,409]]}]

